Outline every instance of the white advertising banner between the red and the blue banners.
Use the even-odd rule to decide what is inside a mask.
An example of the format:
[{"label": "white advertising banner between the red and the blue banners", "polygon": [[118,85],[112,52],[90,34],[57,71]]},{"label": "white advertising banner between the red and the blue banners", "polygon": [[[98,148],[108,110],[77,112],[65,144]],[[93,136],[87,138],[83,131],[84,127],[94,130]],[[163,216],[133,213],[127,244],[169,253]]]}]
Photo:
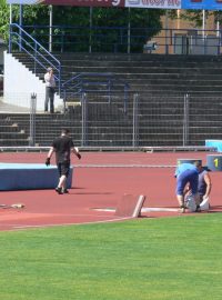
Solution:
[{"label": "white advertising banner between the red and the blue banners", "polygon": [[181,9],[181,0],[125,0],[127,8]]}]

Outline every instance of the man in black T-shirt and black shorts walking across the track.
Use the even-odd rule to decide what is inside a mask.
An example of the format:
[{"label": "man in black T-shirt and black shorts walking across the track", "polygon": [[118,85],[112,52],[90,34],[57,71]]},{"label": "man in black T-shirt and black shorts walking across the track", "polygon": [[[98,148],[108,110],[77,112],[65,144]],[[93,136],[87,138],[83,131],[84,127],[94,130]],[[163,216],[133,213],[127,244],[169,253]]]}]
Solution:
[{"label": "man in black T-shirt and black shorts walking across the track", "polygon": [[59,183],[56,188],[56,191],[59,194],[68,193],[67,190],[67,178],[70,171],[70,154],[73,152],[79,159],[81,159],[81,154],[79,150],[74,148],[74,143],[69,136],[69,129],[62,129],[61,137],[57,138],[49,150],[46,164],[50,166],[50,159],[56,152],[56,161],[59,171]]}]

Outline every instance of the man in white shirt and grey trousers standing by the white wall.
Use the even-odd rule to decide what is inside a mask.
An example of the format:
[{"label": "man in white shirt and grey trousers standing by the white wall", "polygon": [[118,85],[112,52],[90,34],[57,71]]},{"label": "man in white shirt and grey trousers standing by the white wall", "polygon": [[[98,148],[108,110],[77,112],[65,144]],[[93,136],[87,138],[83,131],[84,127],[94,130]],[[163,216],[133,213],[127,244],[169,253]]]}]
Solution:
[{"label": "man in white shirt and grey trousers standing by the white wall", "polygon": [[53,74],[53,69],[51,67],[47,69],[47,73],[44,74],[44,82],[46,82],[44,112],[48,112],[48,107],[50,102],[50,113],[53,113],[56,78]]}]

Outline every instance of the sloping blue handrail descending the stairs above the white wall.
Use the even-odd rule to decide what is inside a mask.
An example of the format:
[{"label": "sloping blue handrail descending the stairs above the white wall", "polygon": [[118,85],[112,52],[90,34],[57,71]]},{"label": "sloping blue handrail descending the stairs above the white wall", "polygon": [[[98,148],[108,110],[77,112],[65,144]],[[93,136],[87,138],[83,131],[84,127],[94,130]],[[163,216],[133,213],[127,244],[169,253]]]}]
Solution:
[{"label": "sloping blue handrail descending the stairs above the white wall", "polygon": [[[14,28],[18,29],[19,32],[13,31]],[[16,37],[16,39],[13,39],[13,37]],[[31,42],[28,39],[30,39]],[[61,63],[60,61],[17,23],[10,24],[9,53],[12,52],[12,43],[16,43],[17,46],[19,46],[20,51],[23,50],[24,52],[27,52],[34,60],[34,62],[41,66],[44,70],[47,70],[47,68],[51,66],[56,70],[56,72],[58,72],[58,76],[56,73],[54,78],[58,81],[59,94],[60,94],[61,93]],[[33,53],[27,49],[28,47],[33,51]],[[38,48],[39,48],[39,51],[38,51]],[[38,59],[38,56],[44,61],[47,66]],[[50,59],[48,59],[46,56],[50,57]]]}]

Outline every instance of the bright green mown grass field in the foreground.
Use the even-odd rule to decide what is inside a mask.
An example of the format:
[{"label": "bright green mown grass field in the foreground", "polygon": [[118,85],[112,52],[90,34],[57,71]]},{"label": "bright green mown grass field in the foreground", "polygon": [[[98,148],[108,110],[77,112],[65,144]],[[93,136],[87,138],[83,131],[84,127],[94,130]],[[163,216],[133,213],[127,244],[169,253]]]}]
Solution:
[{"label": "bright green mown grass field in the foreground", "polygon": [[221,231],[209,213],[0,232],[0,299],[222,299]]}]

